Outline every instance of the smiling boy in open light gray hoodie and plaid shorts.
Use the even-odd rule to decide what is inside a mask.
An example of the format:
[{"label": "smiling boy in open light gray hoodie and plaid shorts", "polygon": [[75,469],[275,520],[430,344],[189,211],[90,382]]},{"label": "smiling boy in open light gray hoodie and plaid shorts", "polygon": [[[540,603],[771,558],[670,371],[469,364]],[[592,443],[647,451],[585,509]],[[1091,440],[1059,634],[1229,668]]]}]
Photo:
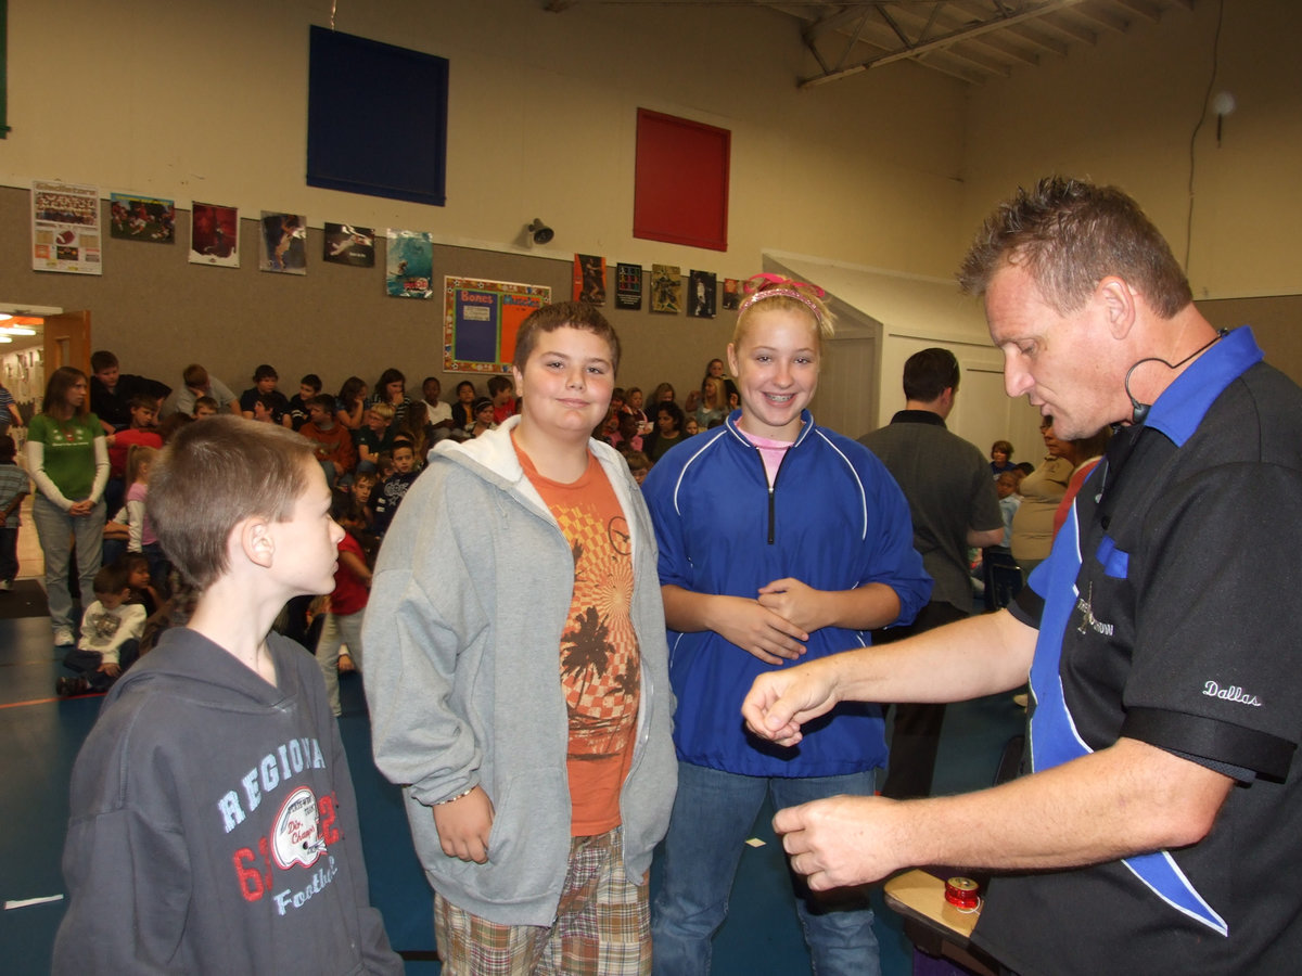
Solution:
[{"label": "smiling boy in open light gray hoodie and plaid shorts", "polygon": [[573,302],[516,342],[522,414],[440,442],[380,550],[375,761],[404,786],[444,972],[635,976],[676,760],[655,534],[590,437],[620,345]]}]

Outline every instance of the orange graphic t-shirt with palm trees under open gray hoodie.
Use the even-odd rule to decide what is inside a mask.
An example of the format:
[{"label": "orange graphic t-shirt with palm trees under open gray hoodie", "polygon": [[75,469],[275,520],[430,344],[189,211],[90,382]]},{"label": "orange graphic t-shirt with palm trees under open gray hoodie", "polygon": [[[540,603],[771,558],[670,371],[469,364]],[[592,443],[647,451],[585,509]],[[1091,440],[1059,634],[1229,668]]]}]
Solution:
[{"label": "orange graphic t-shirt with palm trees under open gray hoodie", "polygon": [[587,470],[570,484],[543,478],[523,452],[517,448],[516,454],[574,554],[574,597],[560,647],[569,711],[570,833],[603,834],[620,825],[620,790],[633,761],[642,683],[629,524],[591,453]]}]

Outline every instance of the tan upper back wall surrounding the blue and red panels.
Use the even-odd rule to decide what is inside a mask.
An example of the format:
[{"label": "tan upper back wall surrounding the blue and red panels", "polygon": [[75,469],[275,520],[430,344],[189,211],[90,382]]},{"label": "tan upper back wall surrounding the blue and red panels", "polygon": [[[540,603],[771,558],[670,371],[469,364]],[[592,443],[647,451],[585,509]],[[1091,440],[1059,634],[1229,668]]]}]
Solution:
[{"label": "tan upper back wall surrounding the blue and red panels", "polygon": [[[764,247],[948,273],[961,238],[963,95],[914,65],[801,92],[797,25],[769,10],[540,0],[339,0],[336,29],[448,57],[448,204],[309,187],[309,25],[331,0],[14,0],[0,181],[430,230],[745,277]],[[421,104],[410,92],[413,125]],[[732,131],[727,254],[637,241],[639,107]],[[365,151],[366,147],[358,147]]]}]

